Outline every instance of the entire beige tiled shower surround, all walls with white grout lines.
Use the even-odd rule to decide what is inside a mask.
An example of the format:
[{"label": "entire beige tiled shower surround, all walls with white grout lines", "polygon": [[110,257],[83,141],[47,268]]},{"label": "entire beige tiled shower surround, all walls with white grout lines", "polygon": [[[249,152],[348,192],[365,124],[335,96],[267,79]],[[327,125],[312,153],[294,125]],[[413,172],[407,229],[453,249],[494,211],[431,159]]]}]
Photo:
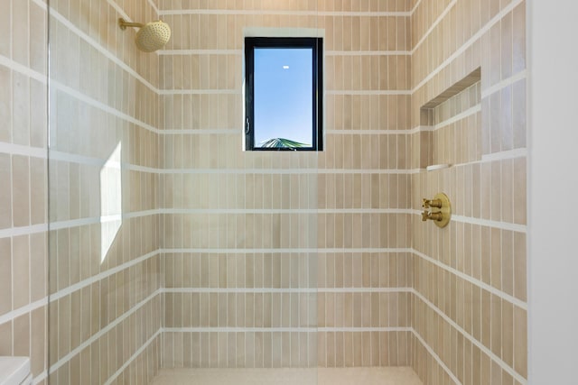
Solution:
[{"label": "entire beige tiled shower surround, all walls with white grout lines", "polygon": [[[0,46],[0,355],[31,356],[36,382],[409,366],[527,383],[525,1],[0,4],[18,26]],[[118,17],[172,39],[141,53]],[[325,151],[240,150],[246,27],[324,32]],[[439,191],[443,230],[419,211]]]}]

